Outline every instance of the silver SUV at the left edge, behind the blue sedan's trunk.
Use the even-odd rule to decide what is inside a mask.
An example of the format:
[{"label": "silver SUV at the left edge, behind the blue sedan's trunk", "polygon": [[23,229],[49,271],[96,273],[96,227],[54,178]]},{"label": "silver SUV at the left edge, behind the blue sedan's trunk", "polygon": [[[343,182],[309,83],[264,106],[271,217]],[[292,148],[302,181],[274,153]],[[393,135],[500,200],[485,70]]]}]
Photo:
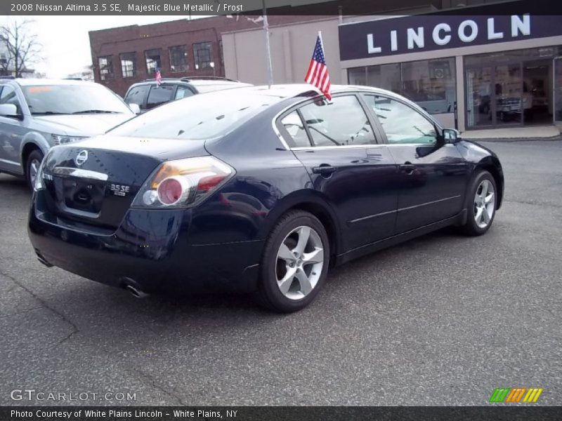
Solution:
[{"label": "silver SUV at the left edge, behind the blue sedan's trunk", "polygon": [[133,116],[98,83],[0,79],[0,172],[25,177],[31,187],[50,147],[104,133]]}]

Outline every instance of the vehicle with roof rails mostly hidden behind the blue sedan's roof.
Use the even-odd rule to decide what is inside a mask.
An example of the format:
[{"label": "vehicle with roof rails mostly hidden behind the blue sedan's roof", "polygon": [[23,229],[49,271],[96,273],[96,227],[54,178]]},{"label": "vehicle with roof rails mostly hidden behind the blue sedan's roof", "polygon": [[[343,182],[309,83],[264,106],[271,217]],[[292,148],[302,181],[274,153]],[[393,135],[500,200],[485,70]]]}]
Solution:
[{"label": "vehicle with roof rails mostly hidden behind the blue sedan's roof", "polygon": [[223,89],[241,88],[251,86],[233,79],[218,76],[195,76],[181,79],[162,79],[158,85],[156,79],[147,79],[134,83],[125,94],[127,104],[136,104],[141,108],[141,113],[158,107],[166,102],[181,100],[197,93],[221,91]]}]

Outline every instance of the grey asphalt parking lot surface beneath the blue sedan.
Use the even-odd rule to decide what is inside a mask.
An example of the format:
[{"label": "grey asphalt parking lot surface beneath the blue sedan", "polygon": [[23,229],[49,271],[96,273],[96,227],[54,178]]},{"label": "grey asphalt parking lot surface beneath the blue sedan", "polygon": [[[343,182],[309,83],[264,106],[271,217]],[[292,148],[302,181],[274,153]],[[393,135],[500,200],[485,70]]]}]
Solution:
[{"label": "grey asphalt parking lot surface beneath the blue sedan", "polygon": [[351,262],[289,315],[244,297],[138,300],[47,269],[30,193],[0,175],[0,405],[487,405],[496,387],[561,405],[562,141],[483,144],[506,176],[488,234]]}]

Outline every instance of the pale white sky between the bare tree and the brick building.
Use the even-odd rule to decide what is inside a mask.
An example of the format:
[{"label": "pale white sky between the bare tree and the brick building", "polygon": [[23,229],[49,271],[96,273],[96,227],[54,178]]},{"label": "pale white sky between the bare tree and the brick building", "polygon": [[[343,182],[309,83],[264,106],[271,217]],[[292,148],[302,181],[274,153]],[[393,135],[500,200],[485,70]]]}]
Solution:
[{"label": "pale white sky between the bare tree and the brick building", "polygon": [[[2,16],[0,22],[5,25],[10,20],[22,20]],[[81,72],[92,64],[90,39],[88,32],[129,25],[147,25],[169,20],[180,20],[178,15],[162,16],[27,16],[33,20],[32,31],[37,34],[43,46],[44,60],[30,67],[47,77],[60,78]]]}]

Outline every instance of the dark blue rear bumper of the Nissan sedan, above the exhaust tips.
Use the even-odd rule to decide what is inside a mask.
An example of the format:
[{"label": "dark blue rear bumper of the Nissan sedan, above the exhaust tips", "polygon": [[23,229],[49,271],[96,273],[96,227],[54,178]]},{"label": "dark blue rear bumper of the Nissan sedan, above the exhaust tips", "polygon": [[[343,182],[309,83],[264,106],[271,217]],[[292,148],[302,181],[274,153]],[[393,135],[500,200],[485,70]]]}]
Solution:
[{"label": "dark blue rear bumper of the Nissan sedan, above the exhaust tips", "polygon": [[145,293],[247,293],[256,289],[263,241],[191,244],[190,210],[127,212],[115,232],[92,232],[30,210],[39,260],[107,285],[132,279]]}]

